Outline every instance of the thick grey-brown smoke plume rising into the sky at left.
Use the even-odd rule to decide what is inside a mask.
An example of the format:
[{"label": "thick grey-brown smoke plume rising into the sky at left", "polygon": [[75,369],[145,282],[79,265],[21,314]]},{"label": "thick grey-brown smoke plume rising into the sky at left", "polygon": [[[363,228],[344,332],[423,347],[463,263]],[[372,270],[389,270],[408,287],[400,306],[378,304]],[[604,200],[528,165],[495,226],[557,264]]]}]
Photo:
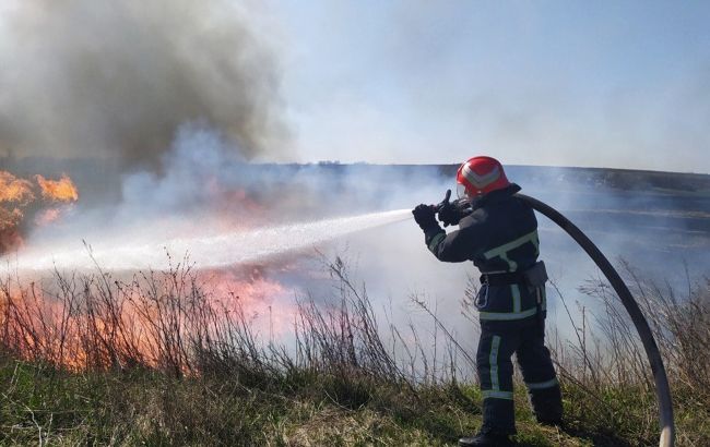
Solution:
[{"label": "thick grey-brown smoke plume rising into the sky at left", "polygon": [[0,154],[159,168],[204,123],[246,158],[284,136],[274,58],[227,0],[23,1],[0,19]]}]

